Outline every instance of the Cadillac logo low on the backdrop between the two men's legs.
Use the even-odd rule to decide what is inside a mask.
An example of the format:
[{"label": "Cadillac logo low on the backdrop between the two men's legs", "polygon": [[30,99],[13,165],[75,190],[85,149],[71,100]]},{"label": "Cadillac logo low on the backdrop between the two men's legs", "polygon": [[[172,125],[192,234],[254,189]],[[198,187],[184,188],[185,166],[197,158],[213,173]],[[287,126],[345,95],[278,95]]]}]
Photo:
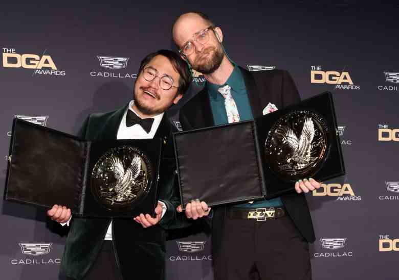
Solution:
[{"label": "Cadillac logo low on the backdrop between the two men's legs", "polygon": [[212,256],[198,254],[205,249],[206,241],[176,241],[181,256],[170,256],[169,261],[211,261]]}]

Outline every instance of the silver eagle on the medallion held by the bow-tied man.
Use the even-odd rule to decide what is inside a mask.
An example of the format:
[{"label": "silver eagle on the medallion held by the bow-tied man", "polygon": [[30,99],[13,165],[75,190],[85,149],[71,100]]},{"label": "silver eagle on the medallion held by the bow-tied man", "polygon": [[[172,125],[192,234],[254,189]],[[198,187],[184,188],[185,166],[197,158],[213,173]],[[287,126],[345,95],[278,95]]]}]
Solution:
[{"label": "silver eagle on the medallion held by the bow-tied man", "polygon": [[113,189],[117,193],[116,198],[112,200],[124,201],[128,198],[136,197],[132,191],[135,190],[134,183],[141,171],[141,158],[135,156],[130,166],[125,170],[122,161],[118,157],[112,157],[110,169],[115,175],[116,182],[113,184]]}]

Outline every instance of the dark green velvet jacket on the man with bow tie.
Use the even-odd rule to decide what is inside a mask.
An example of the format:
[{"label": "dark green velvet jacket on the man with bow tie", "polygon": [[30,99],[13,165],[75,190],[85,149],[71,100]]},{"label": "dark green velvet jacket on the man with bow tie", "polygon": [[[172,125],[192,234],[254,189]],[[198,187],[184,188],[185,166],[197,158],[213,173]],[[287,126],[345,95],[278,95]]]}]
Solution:
[{"label": "dark green velvet jacket on the man with bow tie", "polygon": [[[101,114],[91,114],[84,121],[79,132],[81,138],[86,140],[116,139],[119,124],[127,106],[119,110]],[[172,133],[174,126],[168,121],[166,114],[158,127],[154,138],[163,139],[163,150],[160,164],[160,179],[158,183],[158,199],[167,206],[159,224],[143,228],[132,218],[113,219],[113,244],[116,251],[116,259],[125,279],[130,278],[129,271],[134,269],[134,256],[138,246],[151,250],[155,258],[159,260],[159,266],[163,266],[165,230],[178,228],[185,224],[184,215],[176,213],[176,207],[180,205],[179,190],[175,180],[175,159]],[[60,274],[74,279],[81,279],[95,262],[101,250],[104,236],[111,219],[77,218],[71,220],[71,228],[66,238],[65,249],[61,261]],[[129,261],[127,261],[129,260]],[[154,264],[152,264],[152,267]],[[140,268],[144,269],[144,268]],[[153,267],[152,269],[163,269]]]}]

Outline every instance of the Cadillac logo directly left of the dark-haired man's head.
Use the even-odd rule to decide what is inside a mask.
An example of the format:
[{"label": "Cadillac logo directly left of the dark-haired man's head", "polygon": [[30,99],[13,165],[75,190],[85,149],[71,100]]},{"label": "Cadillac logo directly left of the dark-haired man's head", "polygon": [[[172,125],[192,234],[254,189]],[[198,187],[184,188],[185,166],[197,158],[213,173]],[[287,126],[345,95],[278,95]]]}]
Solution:
[{"label": "Cadillac logo directly left of the dark-haired man's head", "polygon": [[[97,56],[100,63],[100,67],[109,70],[121,70],[127,67],[128,57],[108,57],[108,56]],[[131,73],[121,73],[115,71],[91,71],[91,77],[101,77],[101,78],[129,78],[136,79],[137,74]]]}]

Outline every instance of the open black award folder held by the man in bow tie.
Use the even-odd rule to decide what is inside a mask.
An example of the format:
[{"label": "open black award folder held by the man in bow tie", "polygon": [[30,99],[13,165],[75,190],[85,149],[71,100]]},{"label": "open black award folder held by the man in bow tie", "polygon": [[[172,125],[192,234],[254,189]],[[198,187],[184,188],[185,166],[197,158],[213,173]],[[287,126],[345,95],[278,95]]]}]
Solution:
[{"label": "open black award folder held by the man in bow tie", "polygon": [[154,216],[161,139],[87,141],[14,119],[4,199],[81,217]]}]

